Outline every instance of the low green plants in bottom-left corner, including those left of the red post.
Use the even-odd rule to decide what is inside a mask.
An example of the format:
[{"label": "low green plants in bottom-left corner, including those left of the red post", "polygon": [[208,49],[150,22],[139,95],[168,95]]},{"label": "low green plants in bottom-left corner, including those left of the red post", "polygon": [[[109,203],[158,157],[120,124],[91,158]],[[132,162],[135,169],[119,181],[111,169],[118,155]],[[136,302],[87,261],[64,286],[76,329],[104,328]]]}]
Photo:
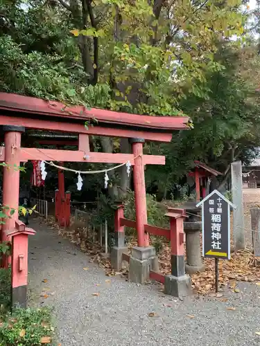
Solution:
[{"label": "low green plants in bottom-left corner, including those left of the red post", "polygon": [[52,311],[12,309],[10,312],[10,269],[0,268],[0,346],[57,345]]}]

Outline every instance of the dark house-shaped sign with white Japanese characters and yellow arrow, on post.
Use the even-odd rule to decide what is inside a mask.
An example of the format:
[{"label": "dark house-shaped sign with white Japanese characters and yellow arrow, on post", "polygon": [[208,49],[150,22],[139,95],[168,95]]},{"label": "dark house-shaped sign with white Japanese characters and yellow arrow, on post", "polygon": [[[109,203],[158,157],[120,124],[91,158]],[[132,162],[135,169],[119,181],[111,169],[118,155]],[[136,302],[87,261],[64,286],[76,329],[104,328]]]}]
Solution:
[{"label": "dark house-shaped sign with white Japanese characters and yellow arrow, on post", "polygon": [[218,260],[230,260],[230,206],[236,208],[218,190],[202,199],[202,255],[215,258],[216,292],[218,292]]}]

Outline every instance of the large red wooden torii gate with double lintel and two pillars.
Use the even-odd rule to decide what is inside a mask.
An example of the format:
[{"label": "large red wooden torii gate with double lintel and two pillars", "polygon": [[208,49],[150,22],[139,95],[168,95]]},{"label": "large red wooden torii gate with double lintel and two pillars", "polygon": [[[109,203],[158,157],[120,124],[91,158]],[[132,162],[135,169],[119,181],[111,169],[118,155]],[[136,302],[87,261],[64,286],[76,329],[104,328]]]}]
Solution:
[{"label": "large red wooden torii gate with double lintel and two pillars", "polygon": [[[11,169],[3,167],[3,206],[10,206],[16,210],[10,219],[6,219],[6,224],[3,224],[2,242],[9,239],[8,235],[15,235],[17,229],[19,170],[12,169],[12,167],[19,167],[20,162],[29,160],[85,163],[125,163],[130,161],[133,166],[135,186],[138,246],[149,246],[148,234],[144,229],[144,225],[147,224],[144,165],[164,165],[165,157],[144,155],[143,145],[145,140],[170,142],[174,130],[189,129],[189,118],[139,116],[94,108],[87,110],[83,106],[67,107],[60,102],[12,93],[0,93],[0,110],[0,125],[3,125],[5,143],[4,147],[1,147],[0,161],[4,161],[11,167]],[[92,120],[94,120],[93,127],[84,126],[86,121]],[[78,150],[21,147],[21,134],[26,129],[76,133],[78,134]],[[90,152],[89,135],[130,138],[132,154]],[[21,229],[23,230],[23,228]],[[28,230],[26,234],[33,233]],[[15,248],[19,252],[19,244]],[[27,256],[27,248],[23,251],[26,251]],[[12,262],[15,262],[14,256],[19,256],[19,253],[12,255]],[[7,266],[7,262],[5,266]],[[19,280],[19,287],[12,287],[14,301],[21,304],[26,299],[24,287],[27,284],[27,264],[23,266],[22,271],[24,275],[21,275],[17,266],[12,268],[12,279],[17,275],[24,277]],[[17,282],[17,280],[12,281]]]}]

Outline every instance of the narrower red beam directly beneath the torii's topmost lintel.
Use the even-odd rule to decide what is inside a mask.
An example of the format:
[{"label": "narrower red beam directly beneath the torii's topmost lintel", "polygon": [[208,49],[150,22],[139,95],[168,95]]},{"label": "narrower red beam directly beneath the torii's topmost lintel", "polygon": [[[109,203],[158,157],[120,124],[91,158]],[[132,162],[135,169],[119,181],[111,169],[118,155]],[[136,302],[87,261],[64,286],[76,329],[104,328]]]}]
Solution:
[{"label": "narrower red beam directly beneath the torii's topmost lintel", "polygon": [[[69,121],[69,119],[68,119]],[[42,129],[50,131],[73,132],[77,134],[89,134],[94,136],[144,138],[146,140],[157,140],[159,142],[171,142],[171,133],[158,133],[155,131],[137,131],[132,129],[116,129],[101,126],[89,126],[87,129],[82,124],[71,122],[49,121],[31,118],[20,118],[17,116],[0,116],[0,125],[24,126],[28,129]]]}]

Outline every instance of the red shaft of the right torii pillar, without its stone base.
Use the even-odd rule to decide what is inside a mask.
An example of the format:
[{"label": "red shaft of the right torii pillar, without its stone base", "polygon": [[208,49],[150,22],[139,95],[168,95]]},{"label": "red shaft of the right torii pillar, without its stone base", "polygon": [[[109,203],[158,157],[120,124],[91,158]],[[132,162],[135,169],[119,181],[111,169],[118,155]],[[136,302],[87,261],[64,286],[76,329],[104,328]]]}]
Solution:
[{"label": "red shaft of the right torii pillar, without its stone base", "polygon": [[134,188],[135,188],[135,214],[137,225],[138,246],[149,246],[149,235],[144,232],[144,225],[147,224],[146,210],[146,182],[144,179],[144,139],[131,138],[132,153],[135,156],[135,166],[133,168]]}]

